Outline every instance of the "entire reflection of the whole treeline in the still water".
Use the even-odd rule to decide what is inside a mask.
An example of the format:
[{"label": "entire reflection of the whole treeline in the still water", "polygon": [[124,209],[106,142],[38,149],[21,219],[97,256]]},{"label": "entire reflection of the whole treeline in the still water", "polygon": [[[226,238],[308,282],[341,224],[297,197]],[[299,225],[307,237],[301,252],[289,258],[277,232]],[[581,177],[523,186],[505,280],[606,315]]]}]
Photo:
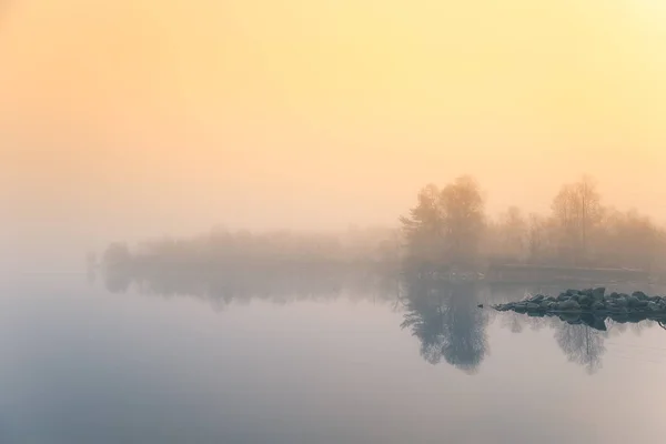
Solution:
[{"label": "entire reflection of the whole treeline in the still water", "polygon": [[[474,374],[490,353],[486,329],[491,317],[513,333],[551,329],[559,349],[573,363],[588,373],[602,367],[605,341],[627,329],[639,332],[654,322],[622,322],[593,316],[572,319],[496,313],[480,309],[515,300],[525,292],[556,293],[561,289],[491,287],[480,282],[447,282],[431,276],[382,273],[367,269],[336,266],[296,266],[285,269],[230,265],[222,271],[182,271],[178,268],[127,270],[104,276],[110,292],[134,286],[142,293],[163,296],[190,296],[208,301],[216,310],[230,303],[265,300],[283,303],[295,300],[349,297],[386,303],[404,311],[402,327],[420,341],[422,357],[431,363],[443,361]],[[626,290],[625,290],[626,291]]]}]

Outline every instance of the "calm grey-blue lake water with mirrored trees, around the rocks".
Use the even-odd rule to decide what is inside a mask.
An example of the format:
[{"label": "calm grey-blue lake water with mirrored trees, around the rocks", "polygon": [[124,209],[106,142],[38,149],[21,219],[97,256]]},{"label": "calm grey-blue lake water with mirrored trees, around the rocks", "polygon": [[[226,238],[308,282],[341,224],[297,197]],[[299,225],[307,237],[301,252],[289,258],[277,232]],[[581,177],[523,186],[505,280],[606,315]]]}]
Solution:
[{"label": "calm grey-blue lake water with mirrored trees, around the rocks", "polygon": [[663,442],[660,326],[476,307],[556,287],[362,281],[4,279],[0,442]]}]

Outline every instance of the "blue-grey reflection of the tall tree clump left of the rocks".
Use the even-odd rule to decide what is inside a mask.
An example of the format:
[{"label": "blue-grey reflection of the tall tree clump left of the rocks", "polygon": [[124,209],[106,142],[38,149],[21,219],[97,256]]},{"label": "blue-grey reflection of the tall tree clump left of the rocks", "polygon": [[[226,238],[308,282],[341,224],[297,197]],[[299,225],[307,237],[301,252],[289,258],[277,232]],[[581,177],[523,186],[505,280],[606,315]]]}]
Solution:
[{"label": "blue-grey reflection of the tall tree clump left of the rocks", "polygon": [[476,307],[478,285],[408,276],[405,289],[402,327],[418,339],[423,359],[475,373],[488,352],[487,312]]}]

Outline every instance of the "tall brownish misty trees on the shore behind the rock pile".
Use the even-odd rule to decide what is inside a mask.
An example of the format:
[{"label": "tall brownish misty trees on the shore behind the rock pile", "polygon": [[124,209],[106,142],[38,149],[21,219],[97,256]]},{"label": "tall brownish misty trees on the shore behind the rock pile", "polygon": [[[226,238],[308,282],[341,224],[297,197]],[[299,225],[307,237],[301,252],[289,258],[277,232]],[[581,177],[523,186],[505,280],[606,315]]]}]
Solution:
[{"label": "tall brownish misty trees on the shore behind the rock pile", "polygon": [[508,206],[485,211],[478,183],[464,175],[424,186],[401,218],[411,264],[478,269],[487,263],[632,268],[660,272],[666,231],[636,210],[603,204],[594,179],[564,184],[546,214]]}]

